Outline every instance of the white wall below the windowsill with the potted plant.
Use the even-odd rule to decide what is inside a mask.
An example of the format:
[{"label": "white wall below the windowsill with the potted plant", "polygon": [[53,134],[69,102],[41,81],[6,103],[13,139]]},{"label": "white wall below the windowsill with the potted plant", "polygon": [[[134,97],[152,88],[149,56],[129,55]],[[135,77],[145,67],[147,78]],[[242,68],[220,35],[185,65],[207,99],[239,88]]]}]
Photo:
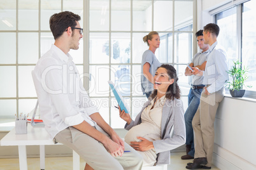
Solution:
[{"label": "white wall below the windowsill with the potted plant", "polygon": [[256,101],[224,97],[215,118],[213,164],[219,169],[256,169]]}]

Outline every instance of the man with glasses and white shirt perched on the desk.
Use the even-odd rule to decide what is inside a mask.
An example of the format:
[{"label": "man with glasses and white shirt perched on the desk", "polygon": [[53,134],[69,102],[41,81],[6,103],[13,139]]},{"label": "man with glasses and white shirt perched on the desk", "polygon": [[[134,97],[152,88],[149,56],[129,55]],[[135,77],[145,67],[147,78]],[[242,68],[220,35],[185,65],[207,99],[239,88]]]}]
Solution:
[{"label": "man with glasses and white shirt perched on the desk", "polygon": [[32,71],[45,129],[56,143],[75,150],[87,162],[85,169],[141,169],[141,155],[101,117],[68,53],[83,37],[79,20],[69,11],[50,17],[55,43]]}]

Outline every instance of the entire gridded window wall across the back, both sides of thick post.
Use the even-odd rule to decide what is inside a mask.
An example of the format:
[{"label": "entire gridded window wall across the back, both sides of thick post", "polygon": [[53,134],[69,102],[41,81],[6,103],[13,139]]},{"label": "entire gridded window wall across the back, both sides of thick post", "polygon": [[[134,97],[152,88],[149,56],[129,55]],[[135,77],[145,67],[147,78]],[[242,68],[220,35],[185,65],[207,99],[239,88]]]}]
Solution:
[{"label": "entire gridded window wall across the back, both sides of thick post", "polygon": [[118,86],[135,118],[146,101],[140,84],[141,58],[148,49],[143,37],[152,30],[159,32],[161,39],[155,55],[178,71],[186,108],[190,80],[184,72],[193,54],[194,0],[30,1],[30,5],[24,5],[27,0],[0,4],[0,39],[4,39],[0,42],[0,118],[30,112],[36,104],[31,70],[54,42],[50,16],[66,10],[82,16],[84,29],[80,48],[69,53],[83,74],[92,102],[112,128],[123,128],[124,121],[113,107],[117,103],[108,81]]}]

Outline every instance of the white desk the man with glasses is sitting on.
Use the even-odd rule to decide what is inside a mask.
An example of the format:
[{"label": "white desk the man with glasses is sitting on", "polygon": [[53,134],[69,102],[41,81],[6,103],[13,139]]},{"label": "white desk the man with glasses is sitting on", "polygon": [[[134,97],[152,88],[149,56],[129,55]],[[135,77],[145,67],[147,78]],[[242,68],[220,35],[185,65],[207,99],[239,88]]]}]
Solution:
[{"label": "white desk the man with glasses is sitting on", "polygon": [[[45,169],[45,145],[55,145],[45,128],[32,128],[30,124],[27,125],[27,134],[15,134],[14,128],[4,136],[0,144],[18,146],[20,170],[27,170],[27,145],[39,145],[41,169]],[[80,156],[75,151],[73,151],[73,169],[80,169]]]}]

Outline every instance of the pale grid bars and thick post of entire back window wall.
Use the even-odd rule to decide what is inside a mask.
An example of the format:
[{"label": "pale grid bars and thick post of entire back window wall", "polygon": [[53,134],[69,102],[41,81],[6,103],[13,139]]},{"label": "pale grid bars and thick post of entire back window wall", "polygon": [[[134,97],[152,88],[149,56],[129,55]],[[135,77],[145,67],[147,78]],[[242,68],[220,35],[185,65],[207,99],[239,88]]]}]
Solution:
[{"label": "pale grid bars and thick post of entire back window wall", "polygon": [[[79,65],[80,67],[83,67],[83,72],[87,72],[87,73],[89,73],[90,74],[90,66],[91,65],[97,65],[97,64],[90,64],[90,33],[96,33],[96,32],[104,32],[104,33],[106,33],[106,34],[109,34],[109,42],[110,42],[110,54],[111,54],[111,34],[115,34],[115,33],[120,33],[120,32],[125,32],[125,33],[129,33],[129,34],[131,34],[131,61],[130,61],[130,63],[124,63],[124,64],[120,64],[120,65],[129,65],[130,66],[130,73],[132,74],[132,69],[133,69],[133,66],[134,65],[136,65],[136,66],[138,66],[138,65],[140,65],[140,63],[133,63],[132,62],[132,34],[134,34],[134,33],[145,33],[145,32],[150,32],[150,31],[152,31],[152,30],[154,30],[154,19],[153,19],[153,16],[154,16],[154,6],[152,6],[152,16],[151,16],[151,20],[152,20],[152,28],[151,28],[151,30],[146,30],[146,31],[136,31],[136,30],[132,30],[132,25],[133,25],[133,23],[132,23],[132,16],[133,16],[133,11],[132,11],[132,3],[133,3],[133,1],[134,0],[131,0],[131,30],[129,30],[129,31],[118,31],[118,30],[111,30],[111,26],[110,26],[110,30],[108,30],[108,31],[96,31],[96,30],[92,30],[92,31],[90,31],[90,27],[89,27],[89,19],[90,19],[90,1],[83,1],[83,6],[81,7],[81,8],[83,8],[83,13],[82,13],[82,15],[81,15],[81,13],[80,13],[80,16],[81,16],[81,18],[82,18],[82,21],[80,21],[80,23],[82,23],[81,24],[81,26],[83,27],[83,30],[84,30],[84,32],[83,32],[83,39],[82,39],[82,41],[83,41],[83,45],[82,45],[82,47],[81,48],[83,48],[83,63],[76,63],[76,65]],[[165,0],[162,0],[162,1],[165,1]],[[173,41],[170,41],[169,43],[171,43],[171,46],[173,46],[173,49],[172,49],[172,51],[168,51],[167,50],[167,48],[168,48],[168,46],[169,46],[169,44],[166,44],[166,55],[167,55],[167,59],[166,59],[166,61],[167,61],[167,63],[169,63],[169,64],[172,64],[172,65],[185,65],[185,64],[187,64],[187,63],[174,63],[174,58],[172,58],[171,60],[169,59],[169,57],[168,56],[170,56],[170,55],[174,55],[174,36],[175,36],[175,33],[177,33],[177,32],[190,32],[190,33],[192,33],[193,35],[194,35],[194,32],[196,31],[196,11],[195,10],[193,10],[193,19],[192,20],[190,20],[189,22],[185,22],[184,24],[193,24],[193,28],[192,28],[192,30],[191,31],[178,31],[178,30],[175,30],[175,28],[174,28],[174,3],[175,3],[175,1],[176,0],[169,0],[169,1],[171,1],[171,3],[173,3],[173,28],[172,29],[169,29],[169,30],[166,30],[166,31],[158,31],[158,30],[156,30],[156,31],[158,31],[159,32],[159,34],[166,34],[167,36],[166,36],[166,43],[168,43],[169,41],[169,35],[171,35],[172,36],[172,39],[173,39]],[[190,0],[190,1],[193,1],[193,7],[195,7],[196,6],[196,4],[197,4],[197,1],[196,0]],[[16,1],[16,3],[18,4],[18,0]],[[109,15],[110,16],[110,23],[111,23],[111,3],[113,3],[113,2],[111,2],[111,0],[109,1],[109,4],[110,4],[110,13],[109,14],[107,14],[107,15]],[[155,1],[154,0],[152,0],[151,1],[151,3],[152,4],[154,4],[155,3]],[[195,8],[193,8],[193,9],[195,9]],[[35,66],[36,65],[36,63],[18,63],[18,34],[20,33],[20,32],[36,32],[36,33],[38,33],[38,58],[40,58],[41,57],[41,33],[50,33],[51,34],[51,31],[50,30],[41,30],[41,20],[42,20],[42,18],[41,18],[41,15],[42,15],[42,13],[41,13],[41,11],[42,11],[42,8],[41,8],[41,1],[38,1],[38,29],[37,30],[18,30],[18,10],[19,10],[19,8],[18,8],[18,6],[16,6],[16,8],[15,8],[15,11],[16,11],[16,16],[17,16],[17,18],[16,18],[16,28],[14,29],[14,30],[0,30],[0,32],[13,32],[13,33],[15,33],[16,34],[16,44],[17,44],[17,46],[16,46],[16,49],[17,49],[17,52],[16,52],[16,62],[15,63],[12,63],[12,64],[1,64],[0,63],[0,67],[1,66],[13,66],[13,67],[16,67],[16,79],[18,80],[18,77],[19,77],[19,75],[18,75],[18,68],[20,67],[20,66]],[[65,10],[65,7],[64,7],[64,0],[61,0],[60,1],[60,9],[59,9],[60,11],[64,11]],[[71,10],[71,11],[73,11],[73,10]],[[184,27],[187,27],[187,25],[184,25]],[[196,45],[195,45],[195,43],[194,42],[190,42],[190,43],[192,43],[193,44],[193,49],[194,50],[192,50],[192,51],[194,51],[194,53],[196,53]],[[170,54],[171,53],[171,54]],[[110,60],[111,60],[111,57],[110,57]],[[110,63],[107,63],[106,65],[119,65],[118,63],[116,63],[116,64],[111,64],[111,62]],[[111,74],[110,74],[111,75]],[[89,84],[90,84],[90,82],[89,82],[89,79],[90,79],[90,77],[83,77],[83,86],[85,87],[85,89],[87,90],[87,93],[89,93]],[[132,84],[131,84],[131,89],[132,89],[133,87],[132,87]],[[18,95],[18,91],[19,91],[19,86],[18,86],[18,81],[16,82],[16,89],[17,89],[17,92],[16,92],[16,96],[13,96],[13,97],[1,97],[0,96],[0,100],[15,100],[15,103],[16,103],[16,112],[18,113],[18,112],[22,112],[22,109],[20,109],[20,101],[21,100],[34,100],[34,101],[36,101],[36,99],[37,99],[37,96],[32,96],[32,97],[29,97],[29,96],[24,96],[24,97],[20,97],[19,95]],[[89,96],[90,96],[90,93],[89,93]],[[182,95],[182,96],[187,96],[187,95]],[[131,101],[134,99],[134,98],[141,98],[142,96],[140,96],[140,95],[136,95],[136,96],[134,96],[134,95],[132,95],[132,93],[131,93],[131,95],[129,95],[129,96],[127,96],[127,97],[130,97],[131,98]],[[113,98],[113,96],[111,95],[111,91],[110,91],[110,94],[106,97],[106,96],[90,96],[90,98],[109,98],[109,100],[111,101],[111,99]],[[31,110],[32,110],[32,108],[34,107],[34,106],[29,106],[29,108],[31,107]],[[109,117],[110,117],[110,119],[109,119],[109,124],[111,125],[111,107],[109,107]],[[130,108],[130,110],[132,110],[132,107]],[[113,114],[113,113],[112,113]],[[134,113],[134,114],[136,114],[136,113]],[[131,113],[131,116],[132,116],[132,113]],[[11,117],[13,117],[13,115],[8,115],[8,117],[0,117],[0,118],[11,118]]]}]

